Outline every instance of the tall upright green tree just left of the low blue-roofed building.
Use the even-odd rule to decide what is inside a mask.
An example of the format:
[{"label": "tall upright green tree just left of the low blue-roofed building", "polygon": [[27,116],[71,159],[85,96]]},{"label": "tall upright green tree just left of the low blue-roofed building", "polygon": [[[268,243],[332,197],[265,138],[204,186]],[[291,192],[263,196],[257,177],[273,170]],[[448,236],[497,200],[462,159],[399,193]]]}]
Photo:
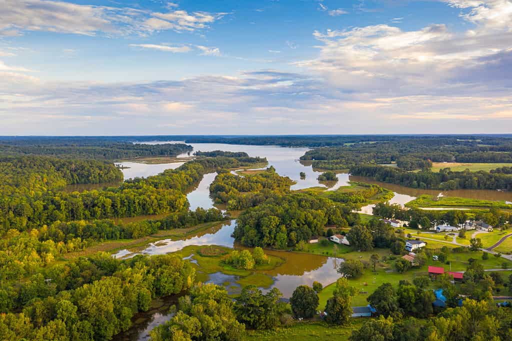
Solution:
[{"label": "tall upright green tree just left of the low blue-roofed building", "polygon": [[346,278],[336,281],[332,297],[327,300],[325,321],[330,324],[346,325],[352,316],[352,296],[356,289],[349,285]]}]

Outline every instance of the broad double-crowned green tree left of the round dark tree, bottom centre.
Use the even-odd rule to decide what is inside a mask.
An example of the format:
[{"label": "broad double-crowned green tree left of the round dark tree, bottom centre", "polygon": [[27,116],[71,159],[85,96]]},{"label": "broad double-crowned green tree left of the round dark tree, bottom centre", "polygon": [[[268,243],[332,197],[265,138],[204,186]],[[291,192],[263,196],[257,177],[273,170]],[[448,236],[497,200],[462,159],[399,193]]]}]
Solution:
[{"label": "broad double-crowned green tree left of the round dark tree, bottom centre", "polygon": [[264,295],[255,285],[244,287],[234,306],[238,321],[252,329],[278,326],[286,309],[286,304],[279,302],[281,296],[277,288]]}]

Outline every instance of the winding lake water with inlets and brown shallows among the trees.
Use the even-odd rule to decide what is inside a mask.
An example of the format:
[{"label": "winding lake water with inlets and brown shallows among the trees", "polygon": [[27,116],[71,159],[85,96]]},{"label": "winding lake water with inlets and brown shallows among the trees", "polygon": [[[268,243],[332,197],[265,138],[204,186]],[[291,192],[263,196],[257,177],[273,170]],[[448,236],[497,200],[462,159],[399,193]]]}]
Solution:
[{"label": "winding lake water with inlets and brown shallows among the trees", "polygon": [[[170,142],[170,141],[169,141]],[[169,143],[167,142],[167,143]],[[177,141],[173,141],[175,143]],[[151,142],[148,142],[151,143]],[[154,142],[166,143],[166,142]],[[367,178],[352,177],[347,173],[337,174],[338,181],[335,184],[322,184],[319,183],[317,177],[321,172],[313,171],[308,163],[301,163],[299,158],[304,155],[308,148],[287,148],[277,146],[257,146],[257,145],[233,145],[233,144],[218,144],[218,143],[192,143],[194,151],[230,151],[230,152],[246,152],[249,156],[266,157],[269,166],[273,166],[282,176],[288,176],[296,183],[291,189],[302,189],[313,186],[328,187],[333,190],[340,186],[345,186],[349,181],[358,181],[366,183],[379,184],[393,190],[395,196],[390,200],[391,203],[404,205],[407,202],[414,200],[422,194],[432,196],[452,196],[463,198],[475,198],[486,200],[506,200],[512,201],[512,193],[501,193],[498,191],[490,190],[453,190],[453,191],[439,191],[439,190],[425,190],[413,189],[388,183],[379,183]],[[178,158],[189,157],[188,154],[178,156]],[[134,177],[148,177],[159,174],[165,169],[177,168],[183,162],[176,162],[170,164],[143,164],[135,162],[123,162],[122,169],[125,179]],[[306,174],[305,179],[301,179],[300,173]],[[216,173],[206,174],[201,182],[195,188],[191,188],[187,195],[190,203],[190,209],[197,207],[210,208],[214,207],[214,202],[209,196],[209,185],[214,181]],[[366,206],[361,211],[371,214],[372,206]],[[231,237],[236,222],[234,220],[220,224],[217,227],[210,228],[202,231],[195,236],[187,237],[183,240],[161,240],[156,243],[147,245],[144,249],[138,252],[131,252],[129,250],[121,250],[114,255],[116,258],[133,257],[135,254],[165,254],[169,252],[178,251],[188,245],[219,245],[226,247],[238,247],[234,239]],[[313,281],[319,281],[323,285],[334,282],[339,273],[336,271],[337,265],[343,260],[324,257],[321,255],[296,253],[296,252],[281,252],[266,250],[266,253],[276,255],[286,260],[286,262],[275,269],[262,271],[263,273],[273,278],[273,284],[270,288],[278,288],[285,298],[291,296],[293,290],[302,284],[311,285]],[[193,259],[190,261],[194,262]],[[231,292],[240,290],[240,286],[236,283],[237,276],[226,275],[223,273],[214,273],[209,275],[208,282],[223,285],[229,283],[226,287]],[[237,287],[238,285],[238,287]],[[262,288],[264,291],[270,288]],[[170,300],[169,302],[174,302]],[[134,319],[134,327],[129,331],[117,335],[118,340],[145,340],[148,339],[148,333],[156,325],[167,321],[170,318],[167,310],[170,303],[165,302],[162,306],[152,309],[149,312],[139,313]]]}]

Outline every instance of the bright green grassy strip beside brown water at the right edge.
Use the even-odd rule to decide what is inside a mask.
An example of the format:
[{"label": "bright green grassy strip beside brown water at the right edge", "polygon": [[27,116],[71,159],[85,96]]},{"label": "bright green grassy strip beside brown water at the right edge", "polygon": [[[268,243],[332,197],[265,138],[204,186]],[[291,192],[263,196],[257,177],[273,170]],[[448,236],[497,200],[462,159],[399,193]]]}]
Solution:
[{"label": "bright green grassy strip beside brown water at the right edge", "polygon": [[512,205],[505,201],[478,200],[456,197],[433,198],[429,195],[422,195],[406,204],[407,207],[462,207],[462,208],[491,208],[512,209]]}]

